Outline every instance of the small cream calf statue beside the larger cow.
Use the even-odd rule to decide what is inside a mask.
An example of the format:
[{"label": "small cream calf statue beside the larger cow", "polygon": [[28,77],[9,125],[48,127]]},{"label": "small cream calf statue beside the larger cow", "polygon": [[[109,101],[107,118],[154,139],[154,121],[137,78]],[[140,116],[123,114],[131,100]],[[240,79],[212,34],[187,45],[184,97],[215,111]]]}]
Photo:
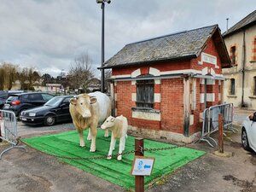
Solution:
[{"label": "small cream calf statue beside the larger cow", "polygon": [[127,119],[123,115],[120,115],[116,118],[109,116],[108,119],[106,119],[105,122],[102,124],[101,128],[103,130],[112,131],[111,143],[107,159],[112,159],[112,152],[115,147],[115,142],[116,139],[119,138],[119,155],[117,159],[122,160],[122,153],[125,150],[125,139],[127,138]]}]

